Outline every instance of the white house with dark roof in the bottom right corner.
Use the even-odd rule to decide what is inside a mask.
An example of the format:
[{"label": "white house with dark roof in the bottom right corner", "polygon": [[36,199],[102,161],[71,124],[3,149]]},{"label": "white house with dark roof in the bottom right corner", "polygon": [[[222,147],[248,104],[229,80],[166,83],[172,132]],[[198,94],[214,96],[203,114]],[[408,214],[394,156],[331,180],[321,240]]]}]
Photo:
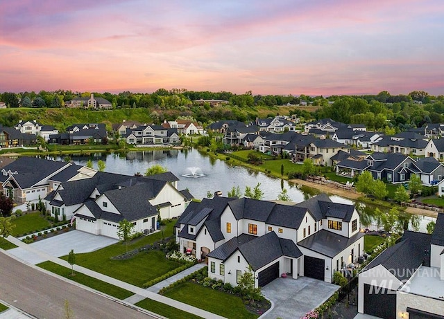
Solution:
[{"label": "white house with dark roof in the bottom right corner", "polygon": [[378,318],[444,318],[444,214],[432,235],[404,231],[359,273],[358,311]]}]

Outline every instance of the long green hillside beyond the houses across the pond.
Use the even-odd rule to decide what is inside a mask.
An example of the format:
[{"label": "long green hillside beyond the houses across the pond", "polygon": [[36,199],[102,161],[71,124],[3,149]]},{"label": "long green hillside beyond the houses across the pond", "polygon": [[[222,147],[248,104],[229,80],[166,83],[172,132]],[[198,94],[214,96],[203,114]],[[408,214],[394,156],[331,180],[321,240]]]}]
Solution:
[{"label": "long green hillside beyond the houses across the pond", "polygon": [[[296,107],[215,107],[205,109],[115,109],[112,111],[91,111],[85,109],[33,109],[10,108],[0,109],[0,124],[8,127],[17,125],[19,120],[37,120],[42,125],[53,125],[56,129],[64,131],[66,127],[75,123],[103,122],[108,129],[113,123],[123,120],[137,120],[139,122],[159,124],[162,120],[173,120],[178,116],[196,118],[201,122],[214,122],[221,119],[254,120],[256,117],[289,115]],[[306,111],[314,111],[316,107],[303,107]]]}]

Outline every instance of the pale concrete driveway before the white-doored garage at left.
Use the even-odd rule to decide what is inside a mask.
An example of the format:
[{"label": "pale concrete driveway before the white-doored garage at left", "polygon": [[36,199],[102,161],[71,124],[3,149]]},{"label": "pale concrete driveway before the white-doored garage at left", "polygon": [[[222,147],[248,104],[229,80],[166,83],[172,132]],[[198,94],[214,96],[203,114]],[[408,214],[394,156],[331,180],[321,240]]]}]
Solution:
[{"label": "pale concrete driveway before the white-doored garage at left", "polygon": [[[29,244],[29,246],[54,257],[61,257],[68,255],[71,249],[74,249],[74,253],[89,253],[110,246],[117,243],[117,241],[117,239],[110,237],[96,236],[81,232],[80,230],[71,230],[68,233],[35,241],[35,243]],[[31,264],[39,264],[46,260],[42,255],[24,248],[13,248],[9,250],[9,253]]]}]

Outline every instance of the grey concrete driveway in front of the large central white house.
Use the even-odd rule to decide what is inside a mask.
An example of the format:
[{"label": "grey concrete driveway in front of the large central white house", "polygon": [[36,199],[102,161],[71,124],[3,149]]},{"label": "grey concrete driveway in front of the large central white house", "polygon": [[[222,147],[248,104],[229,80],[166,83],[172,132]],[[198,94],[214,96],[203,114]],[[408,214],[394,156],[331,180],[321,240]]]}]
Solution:
[{"label": "grey concrete driveway in front of the large central white house", "polygon": [[278,278],[262,288],[262,294],[274,304],[273,309],[260,318],[301,318],[308,311],[320,306],[339,289],[309,277]]}]

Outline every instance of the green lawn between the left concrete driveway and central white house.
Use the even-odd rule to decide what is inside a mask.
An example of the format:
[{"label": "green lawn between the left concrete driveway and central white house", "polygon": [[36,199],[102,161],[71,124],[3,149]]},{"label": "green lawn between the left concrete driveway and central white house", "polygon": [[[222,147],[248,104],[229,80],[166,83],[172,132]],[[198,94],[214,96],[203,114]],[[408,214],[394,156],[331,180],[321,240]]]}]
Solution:
[{"label": "green lawn between the left concrete driveway and central white house", "polygon": [[[165,237],[173,234],[173,225],[176,221],[167,224]],[[132,244],[128,244],[128,250],[139,248],[147,244],[153,244],[154,241],[162,239],[162,234],[155,233],[149,236],[143,236],[142,239],[136,239]],[[117,243],[92,253],[76,254],[76,264],[84,266],[98,273],[103,273],[110,277],[142,286],[145,282],[153,280],[173,269],[182,266],[178,262],[172,262],[165,258],[164,253],[151,250],[148,253],[142,252],[133,258],[126,260],[112,260],[111,257],[121,255],[126,252],[126,245]],[[67,260],[64,256],[62,259]],[[134,271],[137,269],[137,271]]]}]

